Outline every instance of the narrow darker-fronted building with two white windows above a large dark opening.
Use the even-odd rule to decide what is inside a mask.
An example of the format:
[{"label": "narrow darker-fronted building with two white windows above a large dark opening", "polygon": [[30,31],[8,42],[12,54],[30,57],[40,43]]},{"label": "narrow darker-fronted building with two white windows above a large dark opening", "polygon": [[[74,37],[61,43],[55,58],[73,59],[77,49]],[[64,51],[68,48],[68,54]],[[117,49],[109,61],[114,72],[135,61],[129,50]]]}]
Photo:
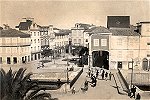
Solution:
[{"label": "narrow darker-fronted building with two white windows above a large dark opening", "polygon": [[110,31],[105,27],[89,30],[89,66],[109,69]]}]

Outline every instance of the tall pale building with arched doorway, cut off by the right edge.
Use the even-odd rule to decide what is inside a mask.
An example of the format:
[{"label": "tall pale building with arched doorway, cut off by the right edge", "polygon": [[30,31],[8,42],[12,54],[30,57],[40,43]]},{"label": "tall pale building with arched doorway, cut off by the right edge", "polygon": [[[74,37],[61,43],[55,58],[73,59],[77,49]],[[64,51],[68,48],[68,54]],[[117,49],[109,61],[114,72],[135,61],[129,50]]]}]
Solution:
[{"label": "tall pale building with arched doorway, cut off by the right edge", "polygon": [[138,62],[143,70],[150,70],[150,21],[137,23],[140,33]]}]

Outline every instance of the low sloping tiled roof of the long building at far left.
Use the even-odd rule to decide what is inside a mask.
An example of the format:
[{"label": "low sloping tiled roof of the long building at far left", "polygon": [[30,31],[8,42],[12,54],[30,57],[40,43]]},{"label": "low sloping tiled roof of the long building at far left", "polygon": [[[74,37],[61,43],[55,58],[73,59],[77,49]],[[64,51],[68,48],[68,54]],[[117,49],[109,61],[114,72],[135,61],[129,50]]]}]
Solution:
[{"label": "low sloping tiled roof of the long building at far left", "polygon": [[23,33],[21,31],[15,30],[15,29],[7,29],[7,30],[1,30],[0,37],[21,37],[21,38],[29,38],[30,34]]}]

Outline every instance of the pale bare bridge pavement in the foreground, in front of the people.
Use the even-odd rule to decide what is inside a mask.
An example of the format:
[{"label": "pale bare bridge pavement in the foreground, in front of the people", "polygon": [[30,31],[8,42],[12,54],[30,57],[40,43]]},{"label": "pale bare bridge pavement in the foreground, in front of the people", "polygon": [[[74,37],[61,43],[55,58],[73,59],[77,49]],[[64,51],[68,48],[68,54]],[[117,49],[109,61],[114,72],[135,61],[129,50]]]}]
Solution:
[{"label": "pale bare bridge pavement in the foreground, in front of the people", "polygon": [[71,92],[59,96],[59,100],[93,100],[93,99],[124,99],[129,100],[129,97],[124,94],[118,94],[117,89],[115,88],[114,80],[98,80],[96,87],[89,86],[87,92],[83,93],[80,88],[85,81],[86,69],[84,70],[81,77],[75,83],[74,87],[77,91],[76,94],[71,94]]}]

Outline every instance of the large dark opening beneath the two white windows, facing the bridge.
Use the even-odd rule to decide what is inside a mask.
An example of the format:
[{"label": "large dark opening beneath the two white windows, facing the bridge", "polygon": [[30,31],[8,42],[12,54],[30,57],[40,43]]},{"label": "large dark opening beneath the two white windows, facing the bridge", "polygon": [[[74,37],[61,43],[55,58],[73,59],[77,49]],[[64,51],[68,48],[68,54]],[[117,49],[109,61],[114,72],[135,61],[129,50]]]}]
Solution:
[{"label": "large dark opening beneath the two white windows, facing the bridge", "polygon": [[93,51],[92,52],[93,67],[109,69],[109,52]]}]

